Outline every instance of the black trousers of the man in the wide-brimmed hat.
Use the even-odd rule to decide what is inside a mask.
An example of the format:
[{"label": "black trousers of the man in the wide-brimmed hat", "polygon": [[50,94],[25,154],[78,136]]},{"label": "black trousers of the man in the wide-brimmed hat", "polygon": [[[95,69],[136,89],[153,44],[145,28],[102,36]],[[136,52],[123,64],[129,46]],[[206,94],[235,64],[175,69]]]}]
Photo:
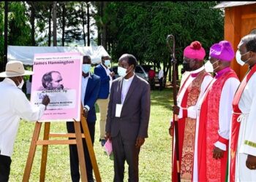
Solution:
[{"label": "black trousers of the man in the wide-brimmed hat", "polygon": [[11,163],[11,157],[0,154],[0,182],[7,182],[9,180]]}]

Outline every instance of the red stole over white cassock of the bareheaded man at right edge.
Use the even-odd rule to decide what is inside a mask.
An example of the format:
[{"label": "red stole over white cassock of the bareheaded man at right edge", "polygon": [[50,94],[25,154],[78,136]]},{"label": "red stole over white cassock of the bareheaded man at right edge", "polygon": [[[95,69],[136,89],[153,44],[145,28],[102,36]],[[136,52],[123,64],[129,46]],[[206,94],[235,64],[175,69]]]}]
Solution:
[{"label": "red stole over white cassock of the bareheaded man at right edge", "polygon": [[[240,129],[240,122],[237,122],[238,116],[241,115],[241,111],[238,107],[238,103],[241,99],[241,95],[244,92],[247,82],[251,78],[252,74],[256,71],[256,65],[252,67],[248,74],[244,77],[243,81],[238,87],[236,94],[233,99],[233,113],[232,114],[232,125],[231,125],[231,138],[230,138],[230,182],[235,181],[236,175],[236,151],[238,145],[238,134]],[[239,114],[240,113],[240,114]]]}]

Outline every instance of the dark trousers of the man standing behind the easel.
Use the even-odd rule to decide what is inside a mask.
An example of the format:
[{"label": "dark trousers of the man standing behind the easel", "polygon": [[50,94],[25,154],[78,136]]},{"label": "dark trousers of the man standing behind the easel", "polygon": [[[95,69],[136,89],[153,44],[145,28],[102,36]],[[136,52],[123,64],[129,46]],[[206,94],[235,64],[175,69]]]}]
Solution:
[{"label": "dark trousers of the man standing behind the easel", "polygon": [[[95,135],[95,122],[87,122],[89,127],[89,132],[91,135],[91,142],[94,144],[94,135]],[[82,124],[80,124],[81,130],[83,132]],[[67,122],[67,132],[75,132],[74,122]],[[71,139],[71,138],[69,138]],[[86,139],[83,138],[83,150],[84,150],[84,157],[86,160],[86,173],[87,173],[87,180],[94,181],[93,173],[92,173],[92,165],[91,159],[89,155],[89,151],[86,145]],[[79,173],[79,160],[78,160],[78,149],[76,145],[69,145],[69,159],[70,159],[70,172],[72,182],[79,182],[80,180],[80,173]]]}]

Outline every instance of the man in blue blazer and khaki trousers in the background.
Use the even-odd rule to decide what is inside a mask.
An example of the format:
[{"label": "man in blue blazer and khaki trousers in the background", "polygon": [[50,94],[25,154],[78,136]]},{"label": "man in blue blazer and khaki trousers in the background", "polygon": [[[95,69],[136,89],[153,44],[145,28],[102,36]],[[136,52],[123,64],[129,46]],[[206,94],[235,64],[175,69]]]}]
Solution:
[{"label": "man in blue blazer and khaki trousers in the background", "polygon": [[110,87],[112,80],[114,79],[115,73],[110,71],[108,66],[110,66],[110,57],[108,55],[102,56],[102,63],[94,68],[94,74],[100,77],[100,89],[99,97],[97,99],[97,104],[99,106],[100,120],[99,120],[99,141],[101,141],[102,146],[105,144],[105,125],[107,119],[108,111],[108,101]]}]

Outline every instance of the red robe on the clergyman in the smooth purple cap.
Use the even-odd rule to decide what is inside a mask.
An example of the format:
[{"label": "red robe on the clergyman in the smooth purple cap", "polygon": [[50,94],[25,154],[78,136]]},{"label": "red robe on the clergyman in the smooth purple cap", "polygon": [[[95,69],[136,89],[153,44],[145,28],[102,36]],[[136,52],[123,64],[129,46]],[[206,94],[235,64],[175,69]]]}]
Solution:
[{"label": "red robe on the clergyman in the smooth purple cap", "polygon": [[[206,96],[200,107],[198,130],[198,181],[225,181],[227,167],[227,151],[222,159],[212,157],[214,143],[219,141],[219,101],[222,88],[229,78],[236,78],[235,71],[223,74],[208,87]],[[228,144],[228,141],[225,142]]]}]

